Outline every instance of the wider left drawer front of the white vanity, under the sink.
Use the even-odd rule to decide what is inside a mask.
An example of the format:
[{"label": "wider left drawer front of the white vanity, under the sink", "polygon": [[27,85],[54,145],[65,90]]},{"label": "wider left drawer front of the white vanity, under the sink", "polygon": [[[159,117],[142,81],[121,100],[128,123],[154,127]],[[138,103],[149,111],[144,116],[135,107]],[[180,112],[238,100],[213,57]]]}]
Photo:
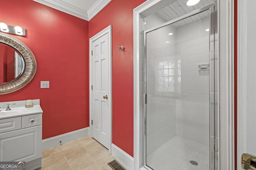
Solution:
[{"label": "wider left drawer front of the white vanity, under the sink", "polygon": [[0,133],[21,129],[21,117],[0,119]]}]

